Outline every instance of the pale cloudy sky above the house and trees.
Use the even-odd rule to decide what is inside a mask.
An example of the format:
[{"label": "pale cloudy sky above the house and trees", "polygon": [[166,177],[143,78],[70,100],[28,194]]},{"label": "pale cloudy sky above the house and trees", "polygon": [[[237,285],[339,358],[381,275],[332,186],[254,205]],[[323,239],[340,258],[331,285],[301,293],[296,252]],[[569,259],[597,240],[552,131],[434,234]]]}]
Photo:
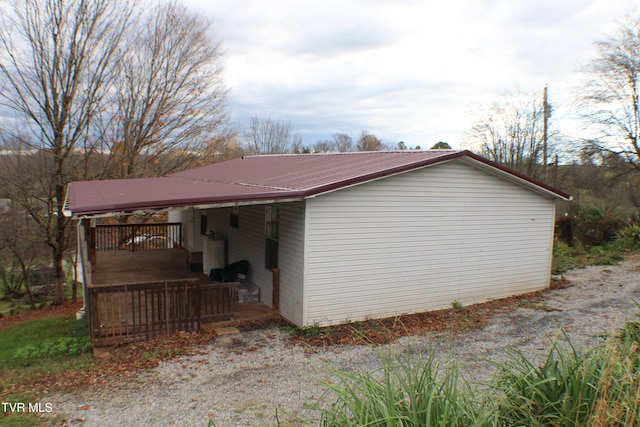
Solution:
[{"label": "pale cloudy sky above the house and trees", "polygon": [[[548,85],[556,124],[580,67],[638,0],[185,0],[221,41],[232,124],[289,121],[306,146],[361,131],[465,146],[479,106]],[[553,123],[552,123],[553,125]]]}]

